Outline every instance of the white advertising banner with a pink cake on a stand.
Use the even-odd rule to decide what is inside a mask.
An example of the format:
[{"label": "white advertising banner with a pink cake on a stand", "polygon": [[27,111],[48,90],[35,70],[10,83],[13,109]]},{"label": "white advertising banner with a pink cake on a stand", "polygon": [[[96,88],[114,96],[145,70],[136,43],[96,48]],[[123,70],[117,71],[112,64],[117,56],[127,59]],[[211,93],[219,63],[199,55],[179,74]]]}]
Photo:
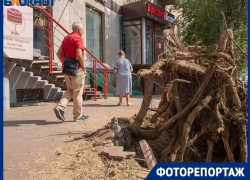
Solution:
[{"label": "white advertising banner with a pink cake on a stand", "polygon": [[4,6],[4,56],[33,60],[33,9]]}]

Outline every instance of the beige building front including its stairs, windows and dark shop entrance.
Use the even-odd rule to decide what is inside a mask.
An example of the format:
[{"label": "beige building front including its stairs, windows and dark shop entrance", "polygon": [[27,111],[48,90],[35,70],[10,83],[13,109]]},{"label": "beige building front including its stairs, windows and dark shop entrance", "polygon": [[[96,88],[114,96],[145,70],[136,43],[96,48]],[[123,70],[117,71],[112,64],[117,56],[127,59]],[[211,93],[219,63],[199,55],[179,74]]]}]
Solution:
[{"label": "beige building front including its stairs, windows and dark shop entrance", "polygon": [[[166,3],[167,2],[167,3]],[[150,68],[157,62],[158,56],[164,52],[163,32],[173,24],[174,15],[165,11],[165,6],[172,0],[56,0],[53,7],[44,7],[46,11],[58,21],[67,31],[71,32],[74,22],[80,22],[84,26],[84,46],[93,53],[101,62],[110,67],[108,73],[108,92],[114,93],[111,85],[114,75],[112,67],[117,60],[117,52],[123,49],[126,57],[134,67],[134,74],[139,69]],[[33,9],[33,47],[34,59],[43,59],[50,55],[48,17],[38,9]],[[59,31],[60,32],[59,32]],[[67,35],[55,23],[53,23],[53,63],[61,67],[56,52],[63,38]],[[21,59],[21,58],[20,58]],[[90,56],[85,52],[85,60]],[[91,67],[89,68],[91,71]],[[26,68],[27,70],[27,68]],[[16,61],[8,61],[5,58],[6,80],[9,82],[9,103],[22,102],[23,97],[30,96],[36,89],[42,100],[60,99],[63,91],[53,85],[53,81],[44,82],[43,77],[33,76],[34,73],[26,72],[25,68]],[[32,69],[31,69],[32,71]],[[42,69],[41,69],[42,71]],[[47,70],[44,71],[48,73]],[[58,76],[59,77],[59,76]],[[63,78],[63,77],[60,77]],[[158,84],[164,79],[157,80]],[[145,80],[141,84],[136,83],[133,75],[133,91],[142,94]],[[86,78],[86,84],[91,84]],[[159,87],[155,87],[160,92]],[[24,91],[26,92],[26,95]],[[35,91],[34,91],[35,92]],[[34,94],[34,93],[33,93]],[[27,98],[32,101],[32,98]]]}]

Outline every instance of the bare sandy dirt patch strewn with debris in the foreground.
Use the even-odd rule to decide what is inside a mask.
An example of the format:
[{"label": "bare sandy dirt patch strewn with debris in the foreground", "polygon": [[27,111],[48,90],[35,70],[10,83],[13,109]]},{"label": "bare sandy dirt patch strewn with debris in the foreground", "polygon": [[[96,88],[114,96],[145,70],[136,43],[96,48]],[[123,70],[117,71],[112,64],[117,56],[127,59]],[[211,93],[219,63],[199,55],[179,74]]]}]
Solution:
[{"label": "bare sandy dirt patch strewn with debris in the foreground", "polygon": [[[144,179],[149,170],[135,159],[112,160],[102,155],[104,142],[95,145],[95,139],[80,139],[63,148],[41,155],[36,163],[45,168],[31,171],[28,179]],[[50,159],[54,159],[50,161]]]}]

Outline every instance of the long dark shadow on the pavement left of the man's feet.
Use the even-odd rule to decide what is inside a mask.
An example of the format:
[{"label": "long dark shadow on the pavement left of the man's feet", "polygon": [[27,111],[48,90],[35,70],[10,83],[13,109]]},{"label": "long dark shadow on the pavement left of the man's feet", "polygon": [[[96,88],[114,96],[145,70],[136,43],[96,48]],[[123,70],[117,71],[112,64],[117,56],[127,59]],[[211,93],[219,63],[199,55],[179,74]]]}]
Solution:
[{"label": "long dark shadow on the pavement left of the man's feet", "polygon": [[[16,121],[4,121],[4,127],[21,126],[22,124],[36,124],[37,126],[50,125],[50,124],[61,124],[62,121],[47,122],[45,120],[16,120]],[[65,123],[65,122],[64,122]]]}]

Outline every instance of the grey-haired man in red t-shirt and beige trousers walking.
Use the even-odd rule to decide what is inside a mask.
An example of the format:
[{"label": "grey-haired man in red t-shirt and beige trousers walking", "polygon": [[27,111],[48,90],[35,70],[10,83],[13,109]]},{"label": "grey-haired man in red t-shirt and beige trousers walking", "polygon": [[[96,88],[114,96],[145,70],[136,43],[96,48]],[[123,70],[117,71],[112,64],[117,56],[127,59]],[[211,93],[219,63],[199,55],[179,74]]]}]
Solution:
[{"label": "grey-haired man in red t-shirt and beige trousers walking", "polygon": [[[83,25],[81,23],[73,23],[73,32],[64,38],[61,47],[57,51],[57,57],[64,62],[64,58],[76,59],[79,66],[76,76],[64,75],[67,91],[63,94],[61,100],[55,107],[56,117],[62,121],[64,118],[64,109],[68,102],[73,98],[73,119],[74,121],[85,121],[89,116],[82,114],[82,94],[85,83],[86,70],[83,60]],[[64,57],[65,56],[65,57]]]}]

